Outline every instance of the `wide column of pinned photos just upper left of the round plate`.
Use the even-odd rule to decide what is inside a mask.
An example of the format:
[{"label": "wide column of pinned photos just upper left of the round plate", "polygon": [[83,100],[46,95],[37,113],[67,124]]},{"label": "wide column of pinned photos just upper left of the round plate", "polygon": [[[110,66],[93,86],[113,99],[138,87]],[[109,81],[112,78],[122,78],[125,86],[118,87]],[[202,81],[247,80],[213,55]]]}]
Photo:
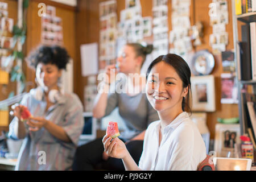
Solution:
[{"label": "wide column of pinned photos just upper left of the round plate", "polygon": [[188,54],[193,50],[189,30],[191,30],[190,0],[172,1],[172,30],[170,31],[170,53],[176,53],[188,60]]}]

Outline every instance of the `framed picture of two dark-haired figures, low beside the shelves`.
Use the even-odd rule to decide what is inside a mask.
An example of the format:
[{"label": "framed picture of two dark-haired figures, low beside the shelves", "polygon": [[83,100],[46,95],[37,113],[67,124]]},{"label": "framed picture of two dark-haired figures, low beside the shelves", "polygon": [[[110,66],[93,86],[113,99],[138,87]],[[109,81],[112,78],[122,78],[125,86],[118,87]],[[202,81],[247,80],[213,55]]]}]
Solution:
[{"label": "framed picture of two dark-haired figures, low beside the shelves", "polygon": [[217,157],[238,158],[240,144],[240,124],[216,124],[214,151]]}]

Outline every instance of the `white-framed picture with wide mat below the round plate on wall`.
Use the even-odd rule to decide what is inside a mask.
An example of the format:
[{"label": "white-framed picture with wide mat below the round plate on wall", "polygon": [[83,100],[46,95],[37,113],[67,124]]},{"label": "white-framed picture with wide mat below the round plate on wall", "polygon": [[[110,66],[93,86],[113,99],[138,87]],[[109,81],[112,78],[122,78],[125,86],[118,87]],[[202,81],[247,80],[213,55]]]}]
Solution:
[{"label": "white-framed picture with wide mat below the round plate on wall", "polygon": [[214,85],[213,75],[191,77],[192,111],[215,111]]}]

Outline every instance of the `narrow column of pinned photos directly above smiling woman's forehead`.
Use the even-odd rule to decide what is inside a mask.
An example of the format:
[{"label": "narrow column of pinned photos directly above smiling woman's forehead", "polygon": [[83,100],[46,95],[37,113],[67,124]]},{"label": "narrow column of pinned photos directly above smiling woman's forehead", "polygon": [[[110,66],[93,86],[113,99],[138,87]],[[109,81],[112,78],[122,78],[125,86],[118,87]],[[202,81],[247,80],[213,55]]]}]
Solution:
[{"label": "narrow column of pinned photos directly above smiling woman's forehead", "polygon": [[166,55],[169,52],[168,41],[168,1],[167,0],[152,0],[153,14],[153,36],[154,36],[154,51],[153,57]]}]

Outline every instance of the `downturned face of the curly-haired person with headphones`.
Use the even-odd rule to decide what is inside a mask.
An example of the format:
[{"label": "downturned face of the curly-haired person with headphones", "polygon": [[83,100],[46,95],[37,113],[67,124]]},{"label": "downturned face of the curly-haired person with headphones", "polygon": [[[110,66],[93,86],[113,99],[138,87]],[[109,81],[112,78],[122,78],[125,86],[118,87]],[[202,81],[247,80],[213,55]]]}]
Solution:
[{"label": "downturned face of the curly-haired person with headphones", "polygon": [[36,79],[40,86],[49,90],[57,88],[57,82],[61,76],[61,70],[55,64],[39,63],[36,67]]}]

